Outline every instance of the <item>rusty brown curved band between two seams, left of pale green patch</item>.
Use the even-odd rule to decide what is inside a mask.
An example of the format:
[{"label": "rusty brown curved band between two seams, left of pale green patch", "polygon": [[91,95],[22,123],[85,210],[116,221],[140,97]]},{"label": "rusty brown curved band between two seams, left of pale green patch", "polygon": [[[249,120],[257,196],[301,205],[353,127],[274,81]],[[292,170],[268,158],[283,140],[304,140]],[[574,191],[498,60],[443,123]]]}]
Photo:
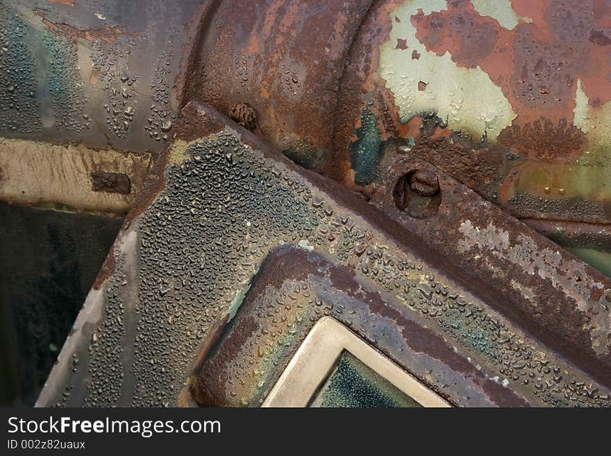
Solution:
[{"label": "rusty brown curved band between two seams, left of pale green patch", "polygon": [[[198,42],[178,81],[181,103],[229,113],[256,111],[258,133],[283,150],[330,151],[337,87],[346,53],[371,0],[222,1],[203,11]],[[230,19],[231,18],[231,19]]]}]

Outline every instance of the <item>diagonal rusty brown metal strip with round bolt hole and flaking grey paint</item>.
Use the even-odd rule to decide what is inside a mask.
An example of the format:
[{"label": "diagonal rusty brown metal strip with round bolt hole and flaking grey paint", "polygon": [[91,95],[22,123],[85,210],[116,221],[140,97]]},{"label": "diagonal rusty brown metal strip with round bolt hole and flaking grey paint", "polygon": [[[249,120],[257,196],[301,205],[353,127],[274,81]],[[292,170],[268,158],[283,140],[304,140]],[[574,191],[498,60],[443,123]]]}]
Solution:
[{"label": "diagonal rusty brown metal strip with round bolt hole and flaking grey paint", "polygon": [[[396,206],[392,194],[394,182],[416,170],[435,173],[440,182],[442,202],[426,218],[410,217]],[[501,292],[489,301],[497,310],[551,346],[574,351],[578,363],[587,363],[586,357],[603,361],[599,374],[608,376],[608,277],[424,160],[403,156],[384,175],[387,184],[371,200],[374,205],[417,233],[445,260],[461,264]]]}]

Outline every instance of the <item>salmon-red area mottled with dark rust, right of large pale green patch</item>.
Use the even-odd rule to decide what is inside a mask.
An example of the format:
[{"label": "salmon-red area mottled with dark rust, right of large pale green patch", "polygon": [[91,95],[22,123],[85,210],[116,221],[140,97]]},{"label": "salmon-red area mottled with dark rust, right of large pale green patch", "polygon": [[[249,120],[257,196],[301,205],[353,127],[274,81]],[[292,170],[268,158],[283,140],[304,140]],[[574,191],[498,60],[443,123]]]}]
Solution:
[{"label": "salmon-red area mottled with dark rust, right of large pale green patch", "polygon": [[585,138],[573,126],[577,81],[591,104],[611,101],[611,30],[606,25],[611,8],[598,0],[512,0],[512,5],[533,22],[508,30],[479,15],[468,0],[448,2],[446,10],[429,15],[420,10],[411,20],[429,51],[449,52],[459,67],[480,67],[501,88],[518,113],[508,127],[512,133],[504,135],[517,142],[503,144],[524,152],[525,139],[516,133],[545,124],[552,135],[545,146],[551,149],[528,150],[529,157],[568,160],[585,149]]}]

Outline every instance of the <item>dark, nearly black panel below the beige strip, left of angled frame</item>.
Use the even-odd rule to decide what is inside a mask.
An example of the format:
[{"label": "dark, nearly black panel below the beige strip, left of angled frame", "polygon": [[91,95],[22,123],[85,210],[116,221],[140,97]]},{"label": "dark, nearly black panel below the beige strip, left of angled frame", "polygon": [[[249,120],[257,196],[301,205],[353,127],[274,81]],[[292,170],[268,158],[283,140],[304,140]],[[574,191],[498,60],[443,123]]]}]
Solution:
[{"label": "dark, nearly black panel below the beige strip, left of angled frame", "polygon": [[122,219],[0,203],[0,405],[33,405]]}]

